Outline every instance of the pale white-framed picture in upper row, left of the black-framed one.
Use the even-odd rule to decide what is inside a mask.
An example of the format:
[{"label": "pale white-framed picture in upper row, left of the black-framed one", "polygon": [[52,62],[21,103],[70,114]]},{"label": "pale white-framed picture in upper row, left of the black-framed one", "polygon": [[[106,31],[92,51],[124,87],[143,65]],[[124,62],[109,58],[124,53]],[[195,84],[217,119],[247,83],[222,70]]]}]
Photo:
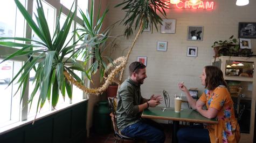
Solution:
[{"label": "pale white-framed picture in upper row, left of the black-framed one", "polygon": [[161,33],[175,33],[176,19],[163,19],[161,25]]}]

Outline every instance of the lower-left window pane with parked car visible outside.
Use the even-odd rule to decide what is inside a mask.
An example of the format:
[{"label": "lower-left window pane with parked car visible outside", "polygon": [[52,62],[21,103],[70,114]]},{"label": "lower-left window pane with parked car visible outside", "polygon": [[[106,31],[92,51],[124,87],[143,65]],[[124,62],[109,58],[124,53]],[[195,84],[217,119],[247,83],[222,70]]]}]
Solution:
[{"label": "lower-left window pane with parked car visible outside", "polygon": [[[0,59],[0,62],[2,62],[2,59]],[[10,86],[8,84],[12,80],[13,75],[16,75],[21,67],[22,62],[16,61],[5,61],[0,64],[0,126],[5,125],[8,121],[19,121],[20,92],[17,92],[15,95],[19,84],[16,84],[17,80]]]}]

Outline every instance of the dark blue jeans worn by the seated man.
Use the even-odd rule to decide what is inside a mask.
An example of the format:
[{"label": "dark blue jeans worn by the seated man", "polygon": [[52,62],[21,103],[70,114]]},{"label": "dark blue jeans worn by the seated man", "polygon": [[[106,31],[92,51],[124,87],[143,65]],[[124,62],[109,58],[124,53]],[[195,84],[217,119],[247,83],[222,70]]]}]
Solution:
[{"label": "dark blue jeans worn by the seated man", "polygon": [[142,121],[125,127],[121,133],[124,136],[140,138],[147,142],[162,143],[165,140],[163,131],[158,129],[158,127],[154,127],[154,125],[149,125],[147,122]]}]

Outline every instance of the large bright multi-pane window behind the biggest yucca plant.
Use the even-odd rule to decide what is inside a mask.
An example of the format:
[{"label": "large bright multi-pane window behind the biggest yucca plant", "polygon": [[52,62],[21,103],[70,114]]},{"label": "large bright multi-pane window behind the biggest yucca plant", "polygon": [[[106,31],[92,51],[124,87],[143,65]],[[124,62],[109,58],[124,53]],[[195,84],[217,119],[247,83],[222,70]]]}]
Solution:
[{"label": "large bright multi-pane window behind the biggest yucca plant", "polygon": [[[27,4],[28,2],[32,2],[32,4]],[[26,5],[26,9],[29,11],[33,11],[32,18],[34,21],[36,21],[34,14],[37,15],[36,11],[36,0],[19,0],[20,3],[23,5]],[[68,11],[65,9],[70,9],[73,1],[70,0],[60,0],[60,1],[50,1],[45,0],[41,1],[44,7],[44,14],[45,18],[47,19],[47,24],[50,28],[50,34],[53,36],[54,28],[56,27],[56,16],[58,11],[60,10],[61,4],[63,4],[65,7],[63,9],[63,13],[61,13],[60,17],[60,25],[64,24],[64,21],[66,19],[66,15],[68,14]],[[82,0],[75,0],[75,4],[78,4],[80,9],[83,11],[86,11],[88,1],[82,1]],[[77,6],[75,5],[74,6]],[[22,14],[19,12],[19,10],[16,7],[16,4],[14,1],[0,1],[0,12],[1,13],[8,13],[8,14],[0,14],[0,36],[4,37],[26,37],[31,38],[34,40],[39,40],[38,36],[34,34],[32,31],[31,33],[27,32],[25,33],[25,24],[26,21],[23,18]],[[32,14],[32,13],[31,13]],[[78,13],[80,14],[80,13]],[[76,27],[81,27],[81,17],[77,16],[77,18],[74,18],[72,22],[72,26],[70,29],[70,34],[68,35],[66,40],[70,40],[72,37],[72,32]],[[73,38],[70,42],[72,44],[75,38]],[[16,41],[18,42],[18,41]],[[67,43],[68,41],[66,41]],[[0,46],[0,56],[6,53],[6,51],[13,51],[13,48],[10,47],[2,47]],[[34,96],[34,100],[32,103],[28,104],[28,110],[22,110],[24,107],[20,105],[20,99],[21,99],[21,93],[20,91],[17,92],[15,96],[13,96],[17,89],[19,84],[16,84],[17,81],[14,81],[13,84],[11,84],[9,87],[7,85],[12,80],[13,76],[17,74],[17,72],[22,67],[23,63],[26,61],[26,56],[20,56],[15,57],[9,61],[5,61],[4,63],[0,64],[0,112],[1,112],[1,118],[0,118],[0,127],[19,122],[21,118],[27,119],[27,118],[34,118],[34,115],[36,115],[36,107],[37,107],[37,99],[39,98],[39,93],[37,93]],[[81,58],[80,58],[81,59]],[[3,59],[0,59],[0,62],[2,62]],[[74,71],[77,73],[80,77],[82,77],[81,72]],[[30,98],[30,94],[32,93],[36,82],[34,81],[35,72],[32,70],[30,72],[30,78],[29,78],[29,84],[27,85],[29,88],[27,91],[25,91],[26,97]],[[19,77],[17,78],[19,79]],[[7,88],[6,88],[7,87]],[[68,95],[66,93],[65,101],[62,97],[62,95],[59,95],[59,102],[56,109],[60,109],[62,106],[67,106],[71,102],[77,102],[83,98],[83,92],[78,89],[77,87],[72,87],[73,92],[73,99],[72,101],[68,98]],[[26,98],[25,98],[26,99]],[[27,100],[25,100],[27,101]],[[31,106],[31,109],[30,109]],[[48,111],[53,110],[51,108],[51,102],[46,101],[44,104],[44,107],[40,109],[41,113],[47,113]]]}]

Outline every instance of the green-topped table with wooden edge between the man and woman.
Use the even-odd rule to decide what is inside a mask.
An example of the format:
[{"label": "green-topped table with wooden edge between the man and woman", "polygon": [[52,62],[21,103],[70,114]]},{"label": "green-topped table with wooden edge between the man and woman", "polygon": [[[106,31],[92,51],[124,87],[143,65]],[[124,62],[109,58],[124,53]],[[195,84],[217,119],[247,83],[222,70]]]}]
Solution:
[{"label": "green-topped table with wooden edge between the man and woman", "polygon": [[199,112],[192,109],[182,109],[181,112],[175,112],[174,108],[167,108],[163,111],[165,107],[155,107],[145,109],[141,115],[142,118],[150,119],[165,119],[173,121],[173,131],[172,131],[172,142],[177,141],[177,131],[179,128],[179,121],[186,121],[192,123],[207,123],[207,124],[218,124],[217,119],[208,119],[199,114]]}]

